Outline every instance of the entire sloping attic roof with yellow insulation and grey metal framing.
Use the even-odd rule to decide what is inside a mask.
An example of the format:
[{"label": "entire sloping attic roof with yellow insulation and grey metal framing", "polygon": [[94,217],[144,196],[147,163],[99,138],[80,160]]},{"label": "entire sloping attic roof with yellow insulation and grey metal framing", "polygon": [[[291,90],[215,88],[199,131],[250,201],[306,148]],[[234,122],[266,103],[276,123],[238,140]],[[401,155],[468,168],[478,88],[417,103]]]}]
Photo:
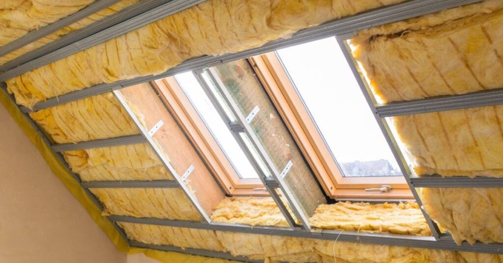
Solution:
[{"label": "entire sloping attic roof with yellow insulation and grey metal framing", "polygon": [[[272,262],[503,260],[503,2],[102,0],[56,13],[22,4],[0,7],[3,27],[26,22],[0,34],[0,101],[119,249]],[[35,11],[45,15],[12,15]],[[338,199],[320,172],[329,164],[299,132],[312,118],[285,109],[290,95],[268,86],[292,82],[267,56],[281,59],[249,58],[327,37],[413,200]],[[177,82],[185,71],[258,178],[240,177],[220,149],[184,93],[193,87]],[[393,170],[384,159],[362,163]],[[253,183],[236,192],[233,176]]]}]

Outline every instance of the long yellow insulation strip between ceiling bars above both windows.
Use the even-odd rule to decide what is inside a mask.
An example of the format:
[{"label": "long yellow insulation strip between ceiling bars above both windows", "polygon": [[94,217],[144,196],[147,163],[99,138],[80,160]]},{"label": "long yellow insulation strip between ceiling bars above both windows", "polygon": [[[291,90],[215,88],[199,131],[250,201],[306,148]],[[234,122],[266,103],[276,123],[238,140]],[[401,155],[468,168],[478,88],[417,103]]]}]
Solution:
[{"label": "long yellow insulation strip between ceiling bars above both windows", "polygon": [[329,20],[403,1],[209,0],[9,79],[8,89],[18,104],[30,107],[95,84],[158,74],[189,58],[258,47]]}]

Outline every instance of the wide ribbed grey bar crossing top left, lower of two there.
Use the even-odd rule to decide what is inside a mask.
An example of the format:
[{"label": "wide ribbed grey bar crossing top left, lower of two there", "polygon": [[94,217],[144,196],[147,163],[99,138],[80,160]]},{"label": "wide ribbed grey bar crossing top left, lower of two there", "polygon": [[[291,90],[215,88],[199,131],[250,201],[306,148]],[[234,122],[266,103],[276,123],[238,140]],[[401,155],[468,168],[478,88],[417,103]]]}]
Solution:
[{"label": "wide ribbed grey bar crossing top left, lower of two there", "polygon": [[204,2],[205,0],[172,0],[156,8],[152,8],[146,12],[143,12],[135,17],[125,20],[121,23],[113,25],[109,28],[101,30],[86,38],[75,41],[69,45],[52,51],[48,54],[30,60],[22,65],[12,68],[4,73],[0,74],[0,81],[5,81],[6,79],[21,75],[25,72],[33,70],[35,68],[41,67],[43,65],[49,64],[58,59],[67,57],[81,50],[85,50],[97,44],[103,43],[112,38],[123,35],[129,31],[140,28],[144,25],[148,25],[164,17],[173,15],[187,8],[193,7],[197,4]]}]

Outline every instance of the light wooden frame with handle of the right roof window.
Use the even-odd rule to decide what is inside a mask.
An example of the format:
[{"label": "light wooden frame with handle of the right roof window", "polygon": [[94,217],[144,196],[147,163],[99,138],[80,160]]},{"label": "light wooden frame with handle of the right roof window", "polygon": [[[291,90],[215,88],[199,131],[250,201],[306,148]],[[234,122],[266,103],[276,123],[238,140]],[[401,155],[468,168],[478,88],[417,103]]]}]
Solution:
[{"label": "light wooden frame with handle of the right roof window", "polygon": [[[404,177],[343,177],[274,52],[248,59],[328,196],[336,199],[413,199]],[[388,193],[366,188],[390,185]]]}]

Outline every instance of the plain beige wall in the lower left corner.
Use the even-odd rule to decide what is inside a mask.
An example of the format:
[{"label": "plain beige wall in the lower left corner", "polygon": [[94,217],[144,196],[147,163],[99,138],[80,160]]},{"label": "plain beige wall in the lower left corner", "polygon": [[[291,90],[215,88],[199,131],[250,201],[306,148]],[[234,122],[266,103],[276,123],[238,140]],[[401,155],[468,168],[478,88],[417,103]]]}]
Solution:
[{"label": "plain beige wall in the lower left corner", "polygon": [[126,262],[2,105],[0,262]]}]

